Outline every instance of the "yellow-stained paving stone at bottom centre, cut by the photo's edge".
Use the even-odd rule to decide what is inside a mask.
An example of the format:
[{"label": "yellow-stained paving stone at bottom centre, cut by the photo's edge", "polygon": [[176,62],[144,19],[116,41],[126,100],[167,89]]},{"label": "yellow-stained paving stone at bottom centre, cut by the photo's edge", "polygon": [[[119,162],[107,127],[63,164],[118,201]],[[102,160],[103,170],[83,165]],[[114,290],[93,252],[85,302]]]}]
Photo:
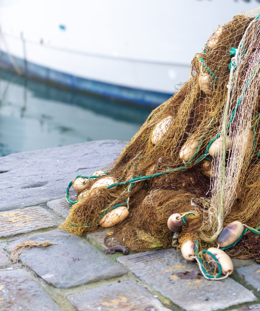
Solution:
[{"label": "yellow-stained paving stone at bottom centre, cut by the photo's edge", "polygon": [[159,300],[140,285],[126,281],[108,284],[68,296],[77,310],[83,311],[167,311]]}]

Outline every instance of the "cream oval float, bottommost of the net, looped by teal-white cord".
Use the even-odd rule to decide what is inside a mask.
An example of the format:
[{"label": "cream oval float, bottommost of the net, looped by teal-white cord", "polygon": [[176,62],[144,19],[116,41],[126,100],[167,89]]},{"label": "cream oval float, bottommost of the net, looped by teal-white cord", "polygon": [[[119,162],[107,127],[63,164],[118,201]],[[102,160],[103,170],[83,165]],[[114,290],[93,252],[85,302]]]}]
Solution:
[{"label": "cream oval float, bottommost of the net, looped by teal-white cord", "polygon": [[[221,270],[222,270],[222,274],[226,275],[229,272],[229,275],[233,272],[233,263],[231,258],[229,257],[228,254],[226,254],[225,252],[219,250],[219,248],[216,247],[210,247],[208,249],[208,251],[210,253],[212,253],[216,259],[218,260],[220,266],[221,266]],[[208,254],[206,253],[206,260],[208,261],[208,263],[210,263],[214,268],[216,268],[216,271],[218,271],[218,265],[215,262],[215,260]]]}]

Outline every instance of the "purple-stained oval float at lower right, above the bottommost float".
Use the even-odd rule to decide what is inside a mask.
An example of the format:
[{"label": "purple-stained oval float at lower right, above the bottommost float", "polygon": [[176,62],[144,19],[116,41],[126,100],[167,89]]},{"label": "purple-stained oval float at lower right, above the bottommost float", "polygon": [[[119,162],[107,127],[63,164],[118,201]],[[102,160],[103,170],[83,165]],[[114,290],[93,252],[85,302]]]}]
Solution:
[{"label": "purple-stained oval float at lower right, above the bottommost float", "polygon": [[234,242],[241,236],[244,231],[244,226],[241,222],[235,221],[224,227],[217,237],[217,243],[220,247],[226,247]]}]

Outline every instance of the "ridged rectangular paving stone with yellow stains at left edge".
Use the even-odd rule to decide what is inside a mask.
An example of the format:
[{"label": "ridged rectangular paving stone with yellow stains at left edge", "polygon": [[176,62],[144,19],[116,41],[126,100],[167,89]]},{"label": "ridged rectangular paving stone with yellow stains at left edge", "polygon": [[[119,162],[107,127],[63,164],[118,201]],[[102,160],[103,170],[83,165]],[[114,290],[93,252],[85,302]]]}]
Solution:
[{"label": "ridged rectangular paving stone with yellow stains at left edge", "polygon": [[50,212],[40,206],[4,211],[0,212],[0,237],[49,228],[58,223]]}]

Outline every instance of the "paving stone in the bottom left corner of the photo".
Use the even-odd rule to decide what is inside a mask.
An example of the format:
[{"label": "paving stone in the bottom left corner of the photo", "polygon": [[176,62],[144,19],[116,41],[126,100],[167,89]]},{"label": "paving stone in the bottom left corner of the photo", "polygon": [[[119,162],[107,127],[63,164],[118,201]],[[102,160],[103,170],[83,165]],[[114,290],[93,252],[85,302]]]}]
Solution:
[{"label": "paving stone in the bottom left corner of the photo", "polygon": [[0,271],[0,309],[56,311],[60,307],[21,270]]}]

